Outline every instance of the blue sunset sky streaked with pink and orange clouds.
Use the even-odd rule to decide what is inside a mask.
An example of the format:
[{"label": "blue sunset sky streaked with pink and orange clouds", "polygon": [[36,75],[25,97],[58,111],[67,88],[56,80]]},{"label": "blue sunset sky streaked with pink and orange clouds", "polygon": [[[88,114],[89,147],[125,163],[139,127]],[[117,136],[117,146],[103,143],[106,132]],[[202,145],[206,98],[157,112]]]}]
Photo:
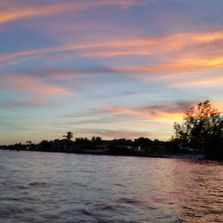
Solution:
[{"label": "blue sunset sky streaked with pink and orange clouds", "polygon": [[0,0],[0,144],[168,140],[222,72],[220,0]]}]

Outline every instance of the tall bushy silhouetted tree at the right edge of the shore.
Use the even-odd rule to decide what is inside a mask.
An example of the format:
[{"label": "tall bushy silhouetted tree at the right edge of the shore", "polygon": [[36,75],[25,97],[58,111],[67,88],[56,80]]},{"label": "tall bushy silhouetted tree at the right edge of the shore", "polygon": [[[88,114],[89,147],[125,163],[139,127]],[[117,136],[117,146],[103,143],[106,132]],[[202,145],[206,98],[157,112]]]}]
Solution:
[{"label": "tall bushy silhouetted tree at the right edge of the shore", "polygon": [[209,157],[223,155],[223,117],[209,101],[190,107],[182,124],[174,123],[175,140]]}]

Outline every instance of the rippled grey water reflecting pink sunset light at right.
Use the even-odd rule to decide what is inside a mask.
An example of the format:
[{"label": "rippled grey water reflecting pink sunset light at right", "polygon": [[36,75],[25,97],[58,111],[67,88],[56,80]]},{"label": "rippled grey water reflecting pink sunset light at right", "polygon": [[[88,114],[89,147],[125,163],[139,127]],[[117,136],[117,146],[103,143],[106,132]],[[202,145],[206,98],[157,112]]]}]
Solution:
[{"label": "rippled grey water reflecting pink sunset light at right", "polygon": [[0,151],[0,222],[223,222],[223,165]]}]

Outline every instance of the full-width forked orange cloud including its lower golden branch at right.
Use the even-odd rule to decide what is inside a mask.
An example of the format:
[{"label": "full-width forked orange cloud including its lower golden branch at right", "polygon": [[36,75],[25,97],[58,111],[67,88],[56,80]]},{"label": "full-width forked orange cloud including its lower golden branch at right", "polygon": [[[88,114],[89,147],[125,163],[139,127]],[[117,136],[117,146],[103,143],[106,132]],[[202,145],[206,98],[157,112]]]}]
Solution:
[{"label": "full-width forked orange cloud including its lower golden branch at right", "polygon": [[[219,41],[223,44],[223,31],[203,33],[179,33],[155,38],[127,38],[114,40],[100,40],[95,42],[77,42],[68,45],[15,51],[0,55],[1,62],[13,63],[30,60],[33,57],[51,57],[54,54],[75,53],[77,56],[88,58],[112,57],[160,57],[168,55],[167,63],[144,66],[141,70],[129,68],[128,72],[184,72],[208,69],[222,65],[219,55]],[[217,43],[216,43],[217,42]],[[216,43],[216,44],[215,44]],[[208,58],[207,49],[202,50],[200,44],[210,46],[212,54]],[[210,45],[209,45],[210,44]],[[209,51],[208,51],[209,52]],[[125,69],[122,69],[125,72]]]}]

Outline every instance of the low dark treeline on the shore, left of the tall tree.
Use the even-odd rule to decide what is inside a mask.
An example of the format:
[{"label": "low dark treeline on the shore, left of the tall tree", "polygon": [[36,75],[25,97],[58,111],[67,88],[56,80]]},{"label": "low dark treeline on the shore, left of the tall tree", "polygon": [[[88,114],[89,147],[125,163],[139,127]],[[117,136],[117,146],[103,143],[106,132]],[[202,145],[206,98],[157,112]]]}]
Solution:
[{"label": "low dark treeline on the shore, left of the tall tree", "polygon": [[[67,132],[67,136],[73,133]],[[149,138],[113,139],[103,140],[101,137],[42,140],[38,144],[27,141],[26,144],[17,143],[14,145],[2,146],[7,150],[28,150],[42,152],[66,152],[66,153],[89,153],[89,154],[110,154],[110,155],[149,155],[156,153],[176,152],[173,142],[151,140]]]}]

